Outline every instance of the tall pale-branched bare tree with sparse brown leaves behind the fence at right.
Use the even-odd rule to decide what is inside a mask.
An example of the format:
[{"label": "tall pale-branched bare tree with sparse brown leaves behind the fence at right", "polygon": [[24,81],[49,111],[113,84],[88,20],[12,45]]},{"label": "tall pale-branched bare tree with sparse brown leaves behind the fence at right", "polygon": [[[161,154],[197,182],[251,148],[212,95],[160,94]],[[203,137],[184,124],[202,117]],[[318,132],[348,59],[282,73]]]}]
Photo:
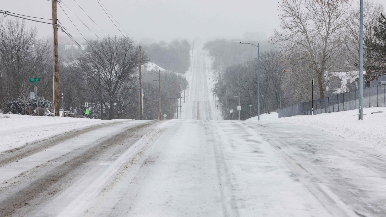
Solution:
[{"label": "tall pale-branched bare tree with sparse brown leaves behind the fence at right", "polygon": [[352,20],[350,0],[283,0],[279,10],[281,25],[272,41],[286,55],[296,55],[311,64],[324,97],[323,78],[339,54],[344,40],[341,28]]}]

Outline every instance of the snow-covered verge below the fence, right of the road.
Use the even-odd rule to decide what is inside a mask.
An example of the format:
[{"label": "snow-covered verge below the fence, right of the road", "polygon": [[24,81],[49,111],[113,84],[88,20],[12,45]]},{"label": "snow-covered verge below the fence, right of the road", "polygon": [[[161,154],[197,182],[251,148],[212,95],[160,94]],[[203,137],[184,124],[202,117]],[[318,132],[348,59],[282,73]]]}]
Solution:
[{"label": "snow-covered verge below the fence, right of the road", "polygon": [[[381,112],[374,113],[372,112]],[[332,112],[318,115],[298,115],[278,118],[278,113],[260,115],[262,121],[285,122],[319,129],[355,141],[386,155],[386,108],[364,108],[363,121],[358,120],[358,110]],[[248,119],[249,120],[249,119]],[[252,117],[257,121],[257,117]]]}]

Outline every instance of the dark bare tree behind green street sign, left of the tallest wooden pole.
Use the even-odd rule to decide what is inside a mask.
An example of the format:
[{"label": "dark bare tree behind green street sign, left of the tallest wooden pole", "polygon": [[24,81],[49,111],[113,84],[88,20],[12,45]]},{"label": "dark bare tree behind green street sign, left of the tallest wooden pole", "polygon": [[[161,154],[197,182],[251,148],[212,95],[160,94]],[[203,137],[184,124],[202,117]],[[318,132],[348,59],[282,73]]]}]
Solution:
[{"label": "dark bare tree behind green street sign, left of the tallest wooden pole", "polygon": [[[44,79],[50,73],[51,56],[47,40],[37,39],[36,28],[27,28],[24,20],[1,19],[0,23],[0,68],[4,72],[5,98],[16,98],[22,92],[22,84],[29,78],[42,77],[42,96],[51,79]],[[49,76],[48,76],[49,77]],[[50,95],[50,94],[49,94]]]}]

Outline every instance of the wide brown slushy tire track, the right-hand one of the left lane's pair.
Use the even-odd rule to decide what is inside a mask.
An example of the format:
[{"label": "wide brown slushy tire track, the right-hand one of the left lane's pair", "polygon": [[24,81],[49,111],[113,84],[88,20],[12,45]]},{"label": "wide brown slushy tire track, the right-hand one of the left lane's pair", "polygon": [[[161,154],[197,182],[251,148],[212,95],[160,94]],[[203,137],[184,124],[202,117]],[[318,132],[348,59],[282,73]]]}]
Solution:
[{"label": "wide brown slushy tire track, the right-hand one of the left lane's pair", "polygon": [[[7,186],[0,188],[0,216],[29,215],[81,178],[85,172],[82,169],[87,169],[93,160],[129,149],[155,122],[157,120],[125,127],[118,134],[99,139],[91,147],[75,149],[8,180]],[[61,160],[63,163],[58,163]]]}]

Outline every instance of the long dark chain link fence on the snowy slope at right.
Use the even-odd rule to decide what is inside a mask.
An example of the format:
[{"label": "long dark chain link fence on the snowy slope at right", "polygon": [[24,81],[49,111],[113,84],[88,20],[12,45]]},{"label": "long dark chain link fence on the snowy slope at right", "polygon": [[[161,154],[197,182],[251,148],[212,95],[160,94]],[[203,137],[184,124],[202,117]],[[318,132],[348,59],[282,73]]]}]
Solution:
[{"label": "long dark chain link fence on the snowy slope at right", "polygon": [[[313,101],[314,114],[341,112],[358,109],[358,90],[339,93]],[[363,107],[386,107],[386,85],[370,86],[363,89]],[[303,102],[279,110],[279,117],[310,115],[312,101]]]}]

